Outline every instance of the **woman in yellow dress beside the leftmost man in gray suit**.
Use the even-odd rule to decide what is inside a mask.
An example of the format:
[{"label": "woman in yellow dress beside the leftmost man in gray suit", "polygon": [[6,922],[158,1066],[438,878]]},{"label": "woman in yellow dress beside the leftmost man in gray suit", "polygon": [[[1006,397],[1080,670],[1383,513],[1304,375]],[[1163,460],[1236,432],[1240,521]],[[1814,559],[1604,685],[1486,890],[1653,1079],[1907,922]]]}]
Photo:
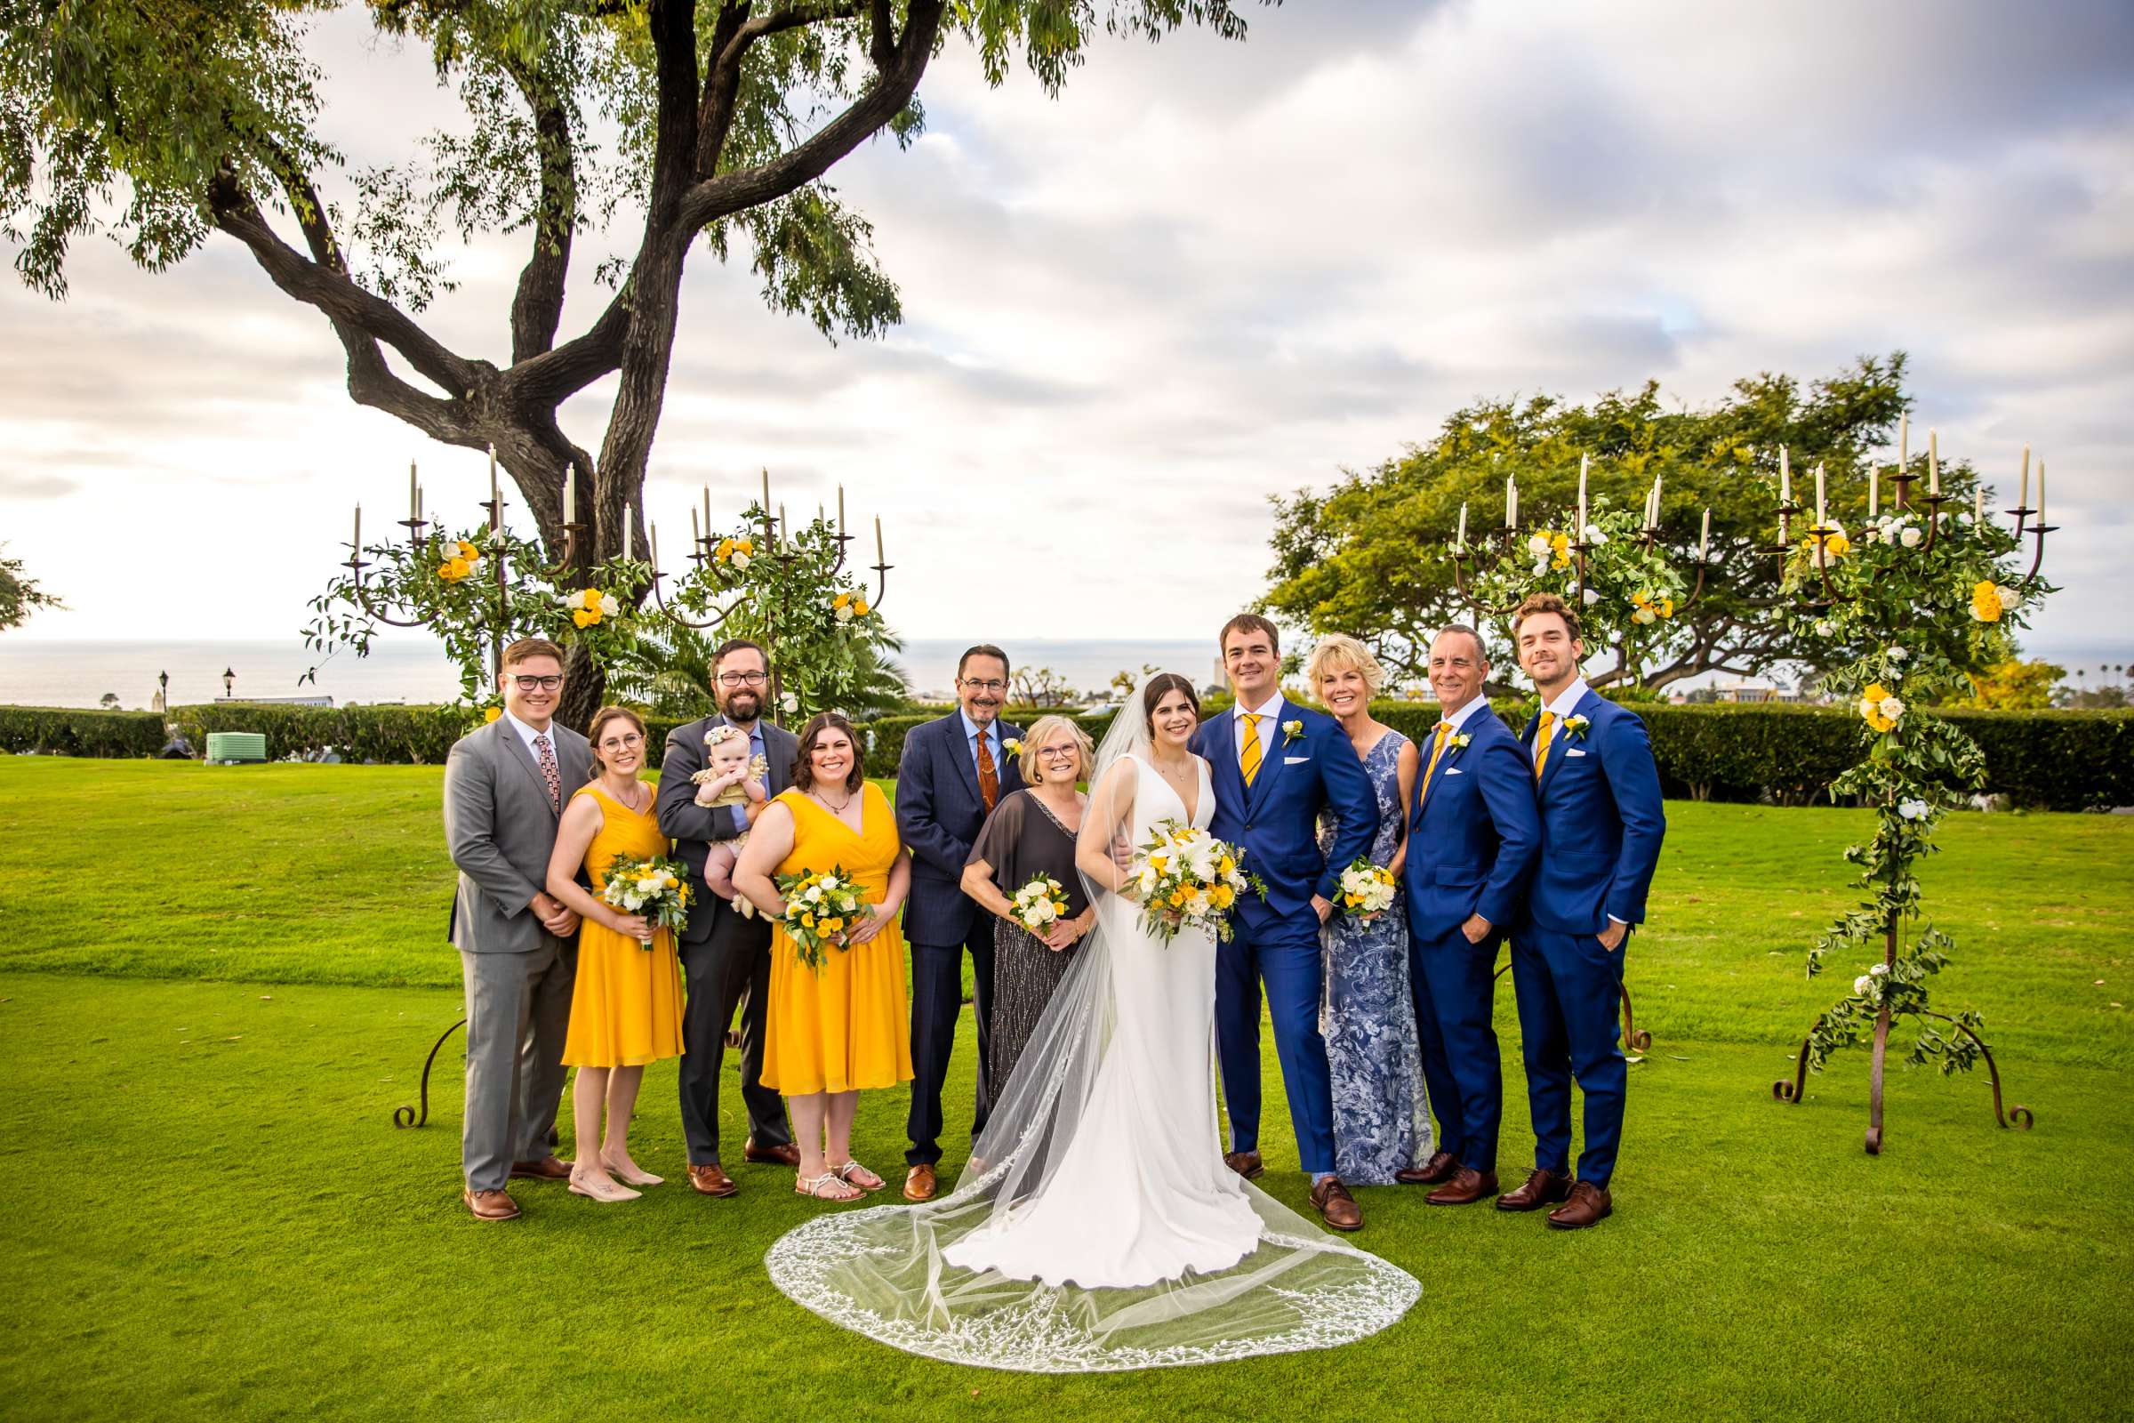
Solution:
[{"label": "woman in yellow dress beside the leftmost man in gray suit", "polygon": [[[587,728],[598,779],[578,787],[563,806],[548,858],[548,894],[578,911],[578,977],[570,996],[570,1033],[563,1065],[578,1069],[572,1116],[578,1161],[570,1193],[593,1201],[636,1201],[630,1186],[657,1186],[630,1158],[630,1114],[638,1105],[644,1065],[681,1056],[681,964],[674,937],[642,915],[623,913],[600,898],[615,856],[666,856],[653,787],[644,768],[644,723],[623,706],[602,706]],[[578,883],[585,868],[593,888]],[[606,1135],[600,1109],[608,1109]],[[595,1148],[598,1144],[598,1148]],[[621,1178],[621,1180],[617,1180]]]}]

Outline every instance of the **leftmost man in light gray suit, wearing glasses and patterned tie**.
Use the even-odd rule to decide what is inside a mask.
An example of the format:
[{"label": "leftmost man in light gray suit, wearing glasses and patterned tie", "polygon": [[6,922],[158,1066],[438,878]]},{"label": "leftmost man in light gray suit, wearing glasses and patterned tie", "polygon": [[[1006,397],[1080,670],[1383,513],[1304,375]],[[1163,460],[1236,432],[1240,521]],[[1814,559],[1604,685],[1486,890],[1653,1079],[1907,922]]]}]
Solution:
[{"label": "leftmost man in light gray suit, wearing glasses and patterned tie", "polygon": [[504,715],[444,762],[444,843],[459,866],[452,945],[467,984],[463,1199],[476,1220],[514,1220],[512,1176],[568,1180],[548,1150],[563,1097],[563,1033],[578,971],[578,915],[548,883],[555,828],[593,777],[593,749],[553,721],[563,649],[523,638],[504,649]]}]

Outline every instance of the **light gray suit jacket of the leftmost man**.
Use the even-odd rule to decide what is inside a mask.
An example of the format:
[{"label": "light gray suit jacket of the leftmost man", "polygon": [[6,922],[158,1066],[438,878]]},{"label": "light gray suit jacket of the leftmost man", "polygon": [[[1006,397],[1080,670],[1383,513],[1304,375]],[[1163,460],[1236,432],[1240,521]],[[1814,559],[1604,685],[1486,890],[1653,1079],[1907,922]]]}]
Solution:
[{"label": "light gray suit jacket of the leftmost man", "polygon": [[[593,779],[593,749],[551,723],[563,804]],[[540,764],[519,732],[497,717],[452,742],[444,760],[444,843],[459,866],[452,943],[467,954],[531,954],[551,937],[529,913],[548,883],[559,811],[548,804]]]}]

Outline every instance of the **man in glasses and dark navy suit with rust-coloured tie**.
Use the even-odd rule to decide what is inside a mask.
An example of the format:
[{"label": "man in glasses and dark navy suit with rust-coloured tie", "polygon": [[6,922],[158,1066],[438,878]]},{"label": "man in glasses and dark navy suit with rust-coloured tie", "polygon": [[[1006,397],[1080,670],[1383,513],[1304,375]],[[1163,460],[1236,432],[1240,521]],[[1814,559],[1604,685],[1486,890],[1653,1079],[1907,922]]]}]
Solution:
[{"label": "man in glasses and dark navy suit with rust-coloured tie", "polygon": [[956,710],[911,728],[896,762],[896,832],[911,851],[911,896],[905,900],[905,941],[911,945],[911,1116],[905,1135],[905,1199],[930,1201],[941,1161],[941,1084],[956,1048],[962,1013],[962,954],[971,952],[973,1009],[977,1018],[977,1112],[971,1137],[986,1129],[992,1056],[992,922],[962,892],[962,862],[971,858],[986,815],[1022,789],[1018,757],[1007,742],[1020,728],[1001,721],[1007,702],[1007,653],[980,644],[956,661]]}]

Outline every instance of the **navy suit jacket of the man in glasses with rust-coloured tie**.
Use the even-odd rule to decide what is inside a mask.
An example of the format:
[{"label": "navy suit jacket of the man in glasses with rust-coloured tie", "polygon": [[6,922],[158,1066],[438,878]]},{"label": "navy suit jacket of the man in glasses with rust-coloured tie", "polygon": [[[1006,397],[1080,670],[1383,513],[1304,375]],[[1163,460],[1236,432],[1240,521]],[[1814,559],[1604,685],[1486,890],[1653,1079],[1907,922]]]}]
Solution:
[{"label": "navy suit jacket of the man in glasses with rust-coloured tie", "polygon": [[[994,721],[1001,740],[1020,728]],[[1001,751],[1001,800],[1022,789],[1018,757]],[[905,900],[905,939],[935,947],[962,943],[984,913],[962,892],[962,862],[986,824],[977,794],[977,764],[962,734],[962,713],[911,728],[896,762],[896,834],[911,851],[911,896]]]}]

